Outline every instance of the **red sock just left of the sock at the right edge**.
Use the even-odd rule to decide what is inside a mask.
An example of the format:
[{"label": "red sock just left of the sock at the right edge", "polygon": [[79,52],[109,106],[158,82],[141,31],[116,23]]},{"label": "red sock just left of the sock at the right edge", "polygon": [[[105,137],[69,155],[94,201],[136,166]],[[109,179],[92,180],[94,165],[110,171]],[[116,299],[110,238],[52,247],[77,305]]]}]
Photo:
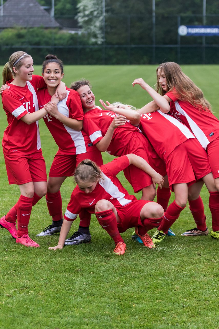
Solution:
[{"label": "red sock just left of the sock at the right edge", "polygon": [[206,216],[204,213],[204,205],[201,196],[199,195],[198,199],[196,200],[188,200],[188,203],[197,229],[205,231],[207,229]]}]

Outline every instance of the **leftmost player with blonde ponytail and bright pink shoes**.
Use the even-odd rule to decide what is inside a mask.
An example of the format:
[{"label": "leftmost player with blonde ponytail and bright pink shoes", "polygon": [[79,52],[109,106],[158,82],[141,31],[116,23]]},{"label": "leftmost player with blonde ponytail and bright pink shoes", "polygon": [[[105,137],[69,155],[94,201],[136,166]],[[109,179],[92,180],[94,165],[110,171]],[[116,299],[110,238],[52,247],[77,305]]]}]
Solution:
[{"label": "leftmost player with blonde ponytail and bright pink shoes", "polygon": [[[29,237],[28,224],[33,205],[47,191],[38,129],[38,120],[47,111],[44,107],[38,111],[36,89],[45,87],[45,82],[33,72],[33,59],[23,51],[13,53],[3,69],[3,84],[7,82],[8,87],[2,93],[2,103],[8,127],[2,146],[9,184],[17,184],[21,195],[11,210],[1,217],[0,226],[6,228],[17,243],[39,247]],[[60,98],[64,94],[60,94]]]}]

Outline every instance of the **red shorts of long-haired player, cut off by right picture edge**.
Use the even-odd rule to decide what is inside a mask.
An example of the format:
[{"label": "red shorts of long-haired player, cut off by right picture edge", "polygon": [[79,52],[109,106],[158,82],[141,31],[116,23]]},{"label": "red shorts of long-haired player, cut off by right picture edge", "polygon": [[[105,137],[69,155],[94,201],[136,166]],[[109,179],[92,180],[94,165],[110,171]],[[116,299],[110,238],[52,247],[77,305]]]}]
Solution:
[{"label": "red shorts of long-haired player, cut off by right picture edge", "polygon": [[219,177],[219,138],[212,140],[207,147],[208,160],[214,179]]}]

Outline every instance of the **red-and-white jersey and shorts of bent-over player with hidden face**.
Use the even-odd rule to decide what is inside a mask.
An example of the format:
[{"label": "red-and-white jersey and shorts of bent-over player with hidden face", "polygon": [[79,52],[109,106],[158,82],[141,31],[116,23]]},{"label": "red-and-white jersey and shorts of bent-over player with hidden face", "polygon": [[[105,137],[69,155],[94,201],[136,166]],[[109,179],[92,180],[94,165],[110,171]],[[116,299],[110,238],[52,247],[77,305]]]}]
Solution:
[{"label": "red-and-white jersey and shorts of bent-over player with hidden face", "polygon": [[141,114],[140,128],[166,165],[169,185],[194,183],[211,170],[206,152],[192,132],[160,110]]}]

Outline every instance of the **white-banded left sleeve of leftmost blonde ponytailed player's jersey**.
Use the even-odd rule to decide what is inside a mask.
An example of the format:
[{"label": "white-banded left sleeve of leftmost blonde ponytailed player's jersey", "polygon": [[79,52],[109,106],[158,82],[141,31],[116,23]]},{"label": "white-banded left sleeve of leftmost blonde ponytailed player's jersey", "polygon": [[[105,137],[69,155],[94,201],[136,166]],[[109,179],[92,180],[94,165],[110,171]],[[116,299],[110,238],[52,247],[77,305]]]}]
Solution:
[{"label": "white-banded left sleeve of leftmost blonde ponytailed player's jersey", "polygon": [[2,93],[2,103],[4,110],[10,112],[17,120],[28,114],[21,101],[8,89]]}]

